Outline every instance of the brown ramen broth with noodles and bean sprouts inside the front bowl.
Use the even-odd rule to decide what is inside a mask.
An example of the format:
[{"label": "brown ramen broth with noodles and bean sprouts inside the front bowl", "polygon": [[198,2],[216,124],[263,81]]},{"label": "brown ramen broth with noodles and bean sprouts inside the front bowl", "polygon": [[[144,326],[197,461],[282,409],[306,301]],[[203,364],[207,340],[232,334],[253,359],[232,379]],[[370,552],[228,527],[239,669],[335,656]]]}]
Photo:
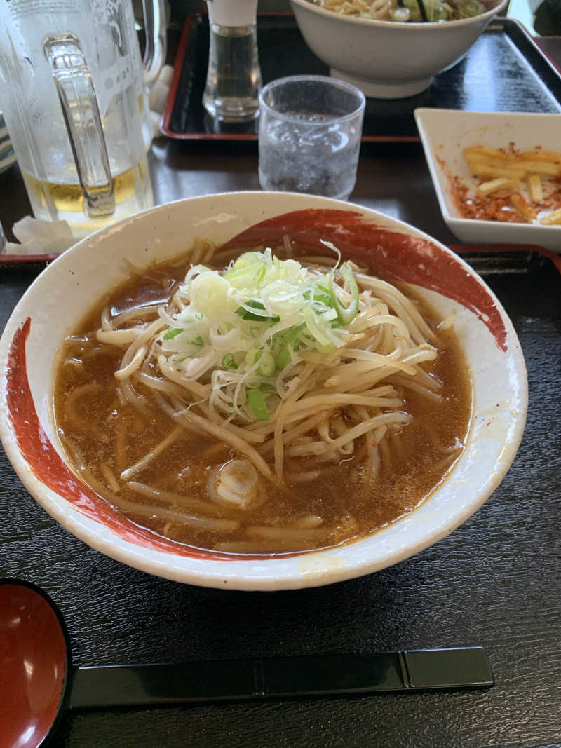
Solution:
[{"label": "brown ramen broth with noodles and bean sprouts inside the front bowl", "polygon": [[[303,248],[289,244],[275,248],[272,258],[263,247],[255,250],[268,268],[288,250],[304,269],[323,272],[304,278],[304,271],[286,266],[312,283],[304,291],[307,304],[316,304],[310,327],[292,325],[269,340],[261,334],[263,349],[247,350],[244,343],[241,353],[223,355],[223,348],[218,364],[188,380],[206,355],[206,333],[187,341],[186,351],[195,346],[191,358],[173,341],[186,336],[188,324],[203,330],[203,315],[186,316],[194,283],[229,262],[231,278],[239,278],[245,266],[232,269],[231,260],[239,253],[218,250],[210,259],[213,248],[201,244],[194,249],[198,258],[132,269],[129,281],[102,299],[64,343],[54,394],[58,434],[76,473],[98,494],[136,524],[176,542],[242,554],[339,545],[411,512],[444,479],[468,432],[470,376],[453,325],[439,326],[405,284],[385,278],[378,298],[378,286],[368,279],[379,278],[375,268],[348,266],[329,275],[332,257],[323,266],[321,258],[308,259]],[[194,272],[189,285],[186,274],[200,257],[206,269]],[[239,296],[244,292],[236,290],[235,298],[245,298]],[[402,295],[426,329],[411,322]],[[259,298],[263,304],[236,301],[242,305],[234,312],[244,331],[256,335],[283,322],[267,305],[269,296]],[[411,338],[392,315],[411,323]],[[316,319],[328,320],[326,334],[335,343],[323,342]],[[378,328],[365,328],[373,319]],[[209,328],[218,346],[236,322],[224,324]],[[134,351],[150,325],[152,337]],[[268,368],[269,355],[274,363]],[[370,361],[381,367],[378,379]],[[247,384],[248,376],[257,380],[242,383],[240,396],[236,381],[245,377]],[[211,382],[228,377],[233,384],[209,399]],[[370,424],[366,431],[364,423]]]}]

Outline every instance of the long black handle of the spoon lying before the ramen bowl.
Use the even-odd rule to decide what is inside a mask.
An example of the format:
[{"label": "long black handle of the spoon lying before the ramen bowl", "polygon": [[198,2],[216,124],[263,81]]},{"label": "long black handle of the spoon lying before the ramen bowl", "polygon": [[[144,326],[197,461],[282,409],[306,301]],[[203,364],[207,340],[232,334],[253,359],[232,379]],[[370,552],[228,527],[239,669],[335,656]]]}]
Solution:
[{"label": "long black handle of the spoon lying before the ramen bowl", "polygon": [[419,693],[485,688],[494,678],[482,647],[412,649],[162,665],[79,667],[71,709],[190,702]]}]

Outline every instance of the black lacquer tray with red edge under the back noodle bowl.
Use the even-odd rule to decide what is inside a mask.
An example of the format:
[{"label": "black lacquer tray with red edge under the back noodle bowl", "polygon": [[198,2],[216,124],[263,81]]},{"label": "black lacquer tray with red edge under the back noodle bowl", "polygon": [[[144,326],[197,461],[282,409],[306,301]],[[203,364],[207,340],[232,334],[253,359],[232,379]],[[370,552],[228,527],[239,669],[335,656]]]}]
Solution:
[{"label": "black lacquer tray with red edge under the back noodle bowl", "polygon": [[[264,83],[301,73],[329,74],[292,14],[258,16],[257,40]],[[191,14],[177,51],[162,132],[182,140],[255,140],[255,123],[225,125],[204,111],[208,55],[208,16]],[[363,141],[418,141],[417,106],[557,113],[561,76],[520,22],[497,17],[462,61],[435,76],[427,91],[405,99],[367,99]]]}]

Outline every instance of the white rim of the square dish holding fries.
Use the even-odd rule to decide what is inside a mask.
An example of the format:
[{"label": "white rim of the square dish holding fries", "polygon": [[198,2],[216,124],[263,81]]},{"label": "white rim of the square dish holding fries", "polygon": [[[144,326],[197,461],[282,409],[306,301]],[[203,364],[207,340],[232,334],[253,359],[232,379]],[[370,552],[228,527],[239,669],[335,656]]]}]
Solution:
[{"label": "white rim of the square dish holding fries", "polygon": [[[463,111],[462,109],[439,109],[439,108],[429,108],[429,107],[417,107],[414,109],[414,118],[415,122],[417,123],[417,129],[419,130],[419,135],[421,139],[421,143],[423,144],[423,150],[425,153],[425,159],[426,164],[429,167],[429,172],[432,179],[432,184],[435,188],[436,197],[438,199],[438,205],[440,206],[442,217],[444,218],[444,221],[447,221],[447,223],[453,223],[457,224],[459,226],[477,226],[482,227],[485,229],[491,229],[491,230],[497,230],[497,227],[516,227],[517,230],[523,232],[523,233],[533,233],[535,231],[539,231],[539,233],[550,233],[551,236],[554,236],[554,232],[560,232],[561,231],[561,225],[547,225],[547,224],[510,224],[505,223],[503,221],[487,221],[482,218],[466,218],[464,215],[457,215],[456,213],[450,212],[447,206],[446,198],[444,197],[444,192],[446,191],[447,183],[445,181],[444,175],[441,174],[441,172],[438,171],[436,167],[436,151],[435,151],[435,143],[434,143],[434,136],[432,135],[432,132],[430,131],[429,125],[425,122],[424,117],[438,115],[438,117],[441,118],[441,120],[453,120],[456,118],[462,117],[463,120],[465,120],[466,123],[468,123],[469,120],[477,120],[480,118],[483,118],[485,120],[490,120],[498,122],[500,120],[508,121],[509,123],[512,123],[513,120],[546,120],[550,119],[551,117],[557,117],[561,118],[561,115],[558,112],[548,112],[548,111],[512,111],[512,112],[505,112],[505,111]],[[560,236],[560,244],[561,244],[561,236]]]}]

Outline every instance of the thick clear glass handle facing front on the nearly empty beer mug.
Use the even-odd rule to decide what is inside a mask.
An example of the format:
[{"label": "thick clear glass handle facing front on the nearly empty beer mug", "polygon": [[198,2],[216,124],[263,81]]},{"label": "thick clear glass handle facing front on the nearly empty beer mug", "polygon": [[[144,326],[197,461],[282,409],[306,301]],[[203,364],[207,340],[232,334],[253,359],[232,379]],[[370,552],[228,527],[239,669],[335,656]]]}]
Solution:
[{"label": "thick clear glass handle facing front on the nearly empty beer mug", "polygon": [[49,36],[43,43],[61,102],[70,147],[89,218],[112,215],[113,179],[90,70],[77,37]]}]

